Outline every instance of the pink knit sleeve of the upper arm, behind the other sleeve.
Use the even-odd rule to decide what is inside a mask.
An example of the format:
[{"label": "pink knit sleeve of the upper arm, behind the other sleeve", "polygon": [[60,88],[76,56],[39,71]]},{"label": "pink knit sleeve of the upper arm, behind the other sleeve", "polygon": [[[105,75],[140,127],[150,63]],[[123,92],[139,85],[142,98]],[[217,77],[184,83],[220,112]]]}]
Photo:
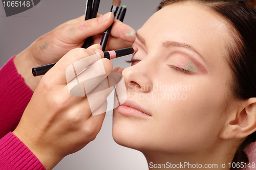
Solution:
[{"label": "pink knit sleeve of the upper arm, behind the other sleeve", "polygon": [[18,74],[14,57],[0,69],[0,138],[16,128],[33,94]]}]

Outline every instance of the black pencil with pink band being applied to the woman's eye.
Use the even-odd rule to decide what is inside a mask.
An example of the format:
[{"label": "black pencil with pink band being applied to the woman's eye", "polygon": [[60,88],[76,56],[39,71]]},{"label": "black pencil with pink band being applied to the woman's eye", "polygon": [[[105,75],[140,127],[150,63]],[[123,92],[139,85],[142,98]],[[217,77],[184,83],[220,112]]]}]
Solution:
[{"label": "black pencil with pink band being applied to the woman's eye", "polygon": [[[107,58],[107,59],[111,60],[111,59],[114,59],[114,58],[126,56],[126,55],[129,55],[129,54],[133,54],[135,52],[137,52],[136,47],[129,47],[129,48],[122,48],[120,50],[106,51],[106,52],[104,52],[104,58]],[[34,67],[34,68],[32,68],[32,74],[33,74],[34,77],[44,75],[55,64],[56,63],[51,63],[51,64],[47,64],[47,65]]]}]

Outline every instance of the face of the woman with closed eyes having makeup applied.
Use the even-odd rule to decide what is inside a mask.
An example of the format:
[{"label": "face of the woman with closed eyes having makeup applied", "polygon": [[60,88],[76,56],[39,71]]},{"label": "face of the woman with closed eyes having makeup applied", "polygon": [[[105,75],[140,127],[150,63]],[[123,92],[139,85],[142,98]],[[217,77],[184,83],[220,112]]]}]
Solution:
[{"label": "face of the woman with closed eyes having makeup applied", "polygon": [[135,62],[122,72],[127,101],[114,110],[117,143],[188,153],[218,141],[230,81],[227,25],[195,3],[168,5],[147,20],[134,42]]}]

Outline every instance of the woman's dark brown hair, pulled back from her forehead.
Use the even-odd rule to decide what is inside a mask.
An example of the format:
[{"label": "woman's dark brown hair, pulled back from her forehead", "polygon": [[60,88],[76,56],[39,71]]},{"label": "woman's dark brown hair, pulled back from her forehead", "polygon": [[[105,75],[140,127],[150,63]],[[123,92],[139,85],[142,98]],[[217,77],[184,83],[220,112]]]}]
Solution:
[{"label": "woman's dark brown hair, pulled back from her forehead", "polygon": [[[157,11],[166,5],[180,2],[196,2],[208,6],[223,16],[231,26],[235,44],[227,46],[228,65],[232,81],[230,92],[235,100],[244,101],[256,97],[256,10],[242,1],[232,0],[165,0]],[[256,132],[247,136],[237,149],[232,162],[248,162],[244,148],[256,140]],[[242,169],[242,168],[231,168]]]}]

